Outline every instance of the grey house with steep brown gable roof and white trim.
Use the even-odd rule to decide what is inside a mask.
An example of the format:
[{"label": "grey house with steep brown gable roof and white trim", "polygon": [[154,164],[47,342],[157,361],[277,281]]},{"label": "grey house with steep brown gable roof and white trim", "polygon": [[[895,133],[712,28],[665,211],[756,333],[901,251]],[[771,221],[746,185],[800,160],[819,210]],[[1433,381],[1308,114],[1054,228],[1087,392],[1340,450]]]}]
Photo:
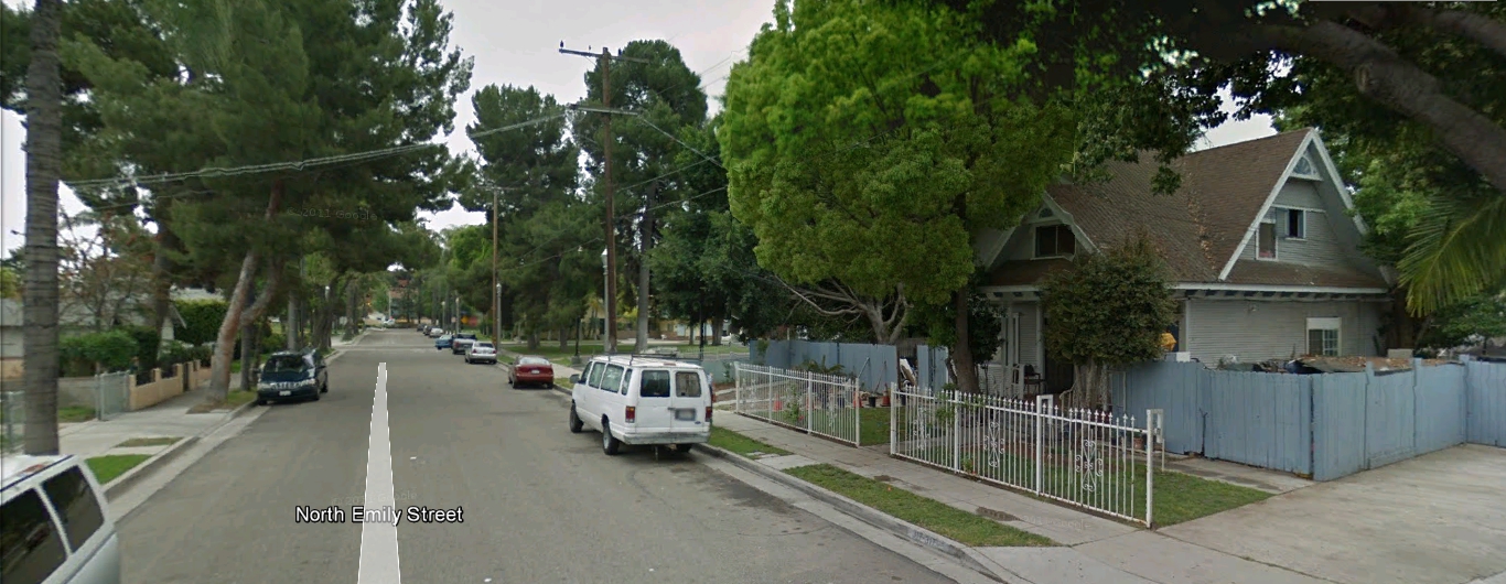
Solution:
[{"label": "grey house with steep brown gable roof and white trim", "polygon": [[1181,188],[1154,194],[1151,157],[1110,163],[1108,181],[1051,185],[1018,226],[979,238],[983,292],[1006,313],[994,363],[1047,391],[1071,387],[1071,364],[1042,340],[1041,278],[1142,229],[1170,266],[1175,351],[1209,364],[1384,355],[1392,275],[1358,251],[1364,221],[1316,129],[1191,152],[1173,167]]}]

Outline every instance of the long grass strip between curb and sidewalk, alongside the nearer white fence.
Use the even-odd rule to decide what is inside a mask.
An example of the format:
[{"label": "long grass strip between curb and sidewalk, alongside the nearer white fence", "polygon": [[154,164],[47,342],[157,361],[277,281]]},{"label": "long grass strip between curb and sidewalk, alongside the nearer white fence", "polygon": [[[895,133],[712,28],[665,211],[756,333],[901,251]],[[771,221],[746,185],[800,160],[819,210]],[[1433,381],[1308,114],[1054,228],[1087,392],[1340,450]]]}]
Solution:
[{"label": "long grass strip between curb and sidewalk, alongside the nearer white fence", "polygon": [[795,467],[791,476],[836,491],[890,516],[925,527],[970,546],[1051,546],[1056,542],[994,519],[968,513],[934,498],[895,488],[828,464]]}]

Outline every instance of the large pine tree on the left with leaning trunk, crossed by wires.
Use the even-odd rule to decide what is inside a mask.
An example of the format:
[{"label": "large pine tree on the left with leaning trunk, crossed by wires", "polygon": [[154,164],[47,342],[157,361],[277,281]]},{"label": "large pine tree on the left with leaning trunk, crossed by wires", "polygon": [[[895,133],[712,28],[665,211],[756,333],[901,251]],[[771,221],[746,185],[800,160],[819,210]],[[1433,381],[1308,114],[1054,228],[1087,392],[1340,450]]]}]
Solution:
[{"label": "large pine tree on the left with leaning trunk, crossed by wires", "polygon": [[[95,44],[74,50],[105,119],[98,148],[117,152],[122,169],[190,172],[163,188],[169,193],[154,188],[151,203],[154,217],[169,217],[184,241],[181,259],[203,269],[239,263],[238,272],[209,274],[233,284],[215,399],[227,384],[235,331],[261,318],[289,260],[322,245],[336,278],[384,269],[395,256],[372,250],[393,247],[366,239],[390,236],[390,226],[411,221],[417,209],[447,206],[455,169],[443,148],[422,144],[449,129],[470,62],[449,48],[450,15],[434,0],[354,9],[337,0],[152,8],[185,75],[152,78]],[[202,114],[181,116],[185,110]],[[386,154],[277,166],[373,151]],[[255,178],[193,175],[211,164],[273,167]],[[170,200],[173,188],[197,197],[163,212],[157,203]],[[267,289],[242,315],[258,278]],[[343,290],[331,286],[328,295],[337,294]]]}]

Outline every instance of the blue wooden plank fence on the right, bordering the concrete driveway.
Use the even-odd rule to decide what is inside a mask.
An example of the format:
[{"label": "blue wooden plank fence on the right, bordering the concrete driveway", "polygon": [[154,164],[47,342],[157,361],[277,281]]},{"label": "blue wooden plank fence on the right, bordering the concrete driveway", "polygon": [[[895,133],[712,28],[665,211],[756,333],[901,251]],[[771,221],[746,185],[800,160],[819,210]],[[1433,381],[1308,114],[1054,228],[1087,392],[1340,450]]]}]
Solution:
[{"label": "blue wooden plank fence on the right, bordering the concrete driveway", "polygon": [[1151,363],[1122,373],[1114,408],[1166,411],[1178,453],[1333,480],[1468,443],[1506,446],[1506,364],[1376,373],[1221,372]]}]

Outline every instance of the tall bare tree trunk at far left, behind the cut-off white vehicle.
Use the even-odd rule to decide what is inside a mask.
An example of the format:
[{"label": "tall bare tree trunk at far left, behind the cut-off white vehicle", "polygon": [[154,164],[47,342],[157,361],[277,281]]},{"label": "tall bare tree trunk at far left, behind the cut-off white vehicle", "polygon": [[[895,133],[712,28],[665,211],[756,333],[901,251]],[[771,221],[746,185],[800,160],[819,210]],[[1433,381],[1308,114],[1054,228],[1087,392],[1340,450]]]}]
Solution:
[{"label": "tall bare tree trunk at far left, behind the cut-off white vehicle", "polygon": [[36,0],[26,71],[26,453],[57,455],[57,182],[62,175],[62,6]]}]

